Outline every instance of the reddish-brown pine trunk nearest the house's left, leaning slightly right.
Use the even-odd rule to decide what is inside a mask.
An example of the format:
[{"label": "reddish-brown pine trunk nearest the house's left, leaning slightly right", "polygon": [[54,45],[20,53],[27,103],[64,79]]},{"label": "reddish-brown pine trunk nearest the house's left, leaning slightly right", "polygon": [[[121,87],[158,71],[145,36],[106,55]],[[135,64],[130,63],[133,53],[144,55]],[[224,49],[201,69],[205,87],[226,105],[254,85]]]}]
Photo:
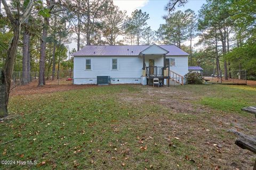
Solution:
[{"label": "reddish-brown pine trunk nearest the house's left, leaning slightly right", "polygon": [[44,18],[44,25],[43,25],[43,32],[42,32],[41,46],[40,46],[38,86],[45,85],[45,57],[46,57],[46,37],[47,37],[48,24],[49,24],[49,18]]}]

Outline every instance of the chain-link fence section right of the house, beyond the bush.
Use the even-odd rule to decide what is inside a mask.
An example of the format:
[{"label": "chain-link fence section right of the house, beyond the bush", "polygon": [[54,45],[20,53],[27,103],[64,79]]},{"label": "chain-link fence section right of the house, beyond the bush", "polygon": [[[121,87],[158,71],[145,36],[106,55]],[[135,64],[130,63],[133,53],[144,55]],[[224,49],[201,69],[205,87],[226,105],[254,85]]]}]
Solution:
[{"label": "chain-link fence section right of the house, beyond the bush", "polygon": [[228,72],[228,80],[225,80],[223,72],[219,77],[217,75],[211,75],[211,77],[205,77],[208,82],[219,84],[247,84],[246,70],[233,70]]}]

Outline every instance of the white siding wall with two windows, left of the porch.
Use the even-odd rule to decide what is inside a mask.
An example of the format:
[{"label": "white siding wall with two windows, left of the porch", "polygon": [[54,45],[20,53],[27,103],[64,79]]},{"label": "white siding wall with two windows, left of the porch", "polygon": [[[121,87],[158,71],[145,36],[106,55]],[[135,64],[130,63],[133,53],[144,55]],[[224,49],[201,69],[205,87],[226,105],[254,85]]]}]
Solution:
[{"label": "white siding wall with two windows, left of the porch", "polygon": [[[112,58],[117,58],[117,70],[112,70]],[[91,70],[85,70],[86,59],[91,59]],[[75,84],[96,84],[97,76],[110,76],[111,83],[140,83],[141,74],[142,58],[139,56],[74,57]]]}]

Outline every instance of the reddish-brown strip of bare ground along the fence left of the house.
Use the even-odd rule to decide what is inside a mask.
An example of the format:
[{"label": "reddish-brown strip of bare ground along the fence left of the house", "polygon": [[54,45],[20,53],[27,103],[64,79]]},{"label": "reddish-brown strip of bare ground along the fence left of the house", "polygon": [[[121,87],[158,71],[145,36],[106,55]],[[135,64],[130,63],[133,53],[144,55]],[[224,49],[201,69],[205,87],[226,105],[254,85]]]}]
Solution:
[{"label": "reddish-brown strip of bare ground along the fence left of the house", "polygon": [[74,85],[72,81],[62,80],[60,85],[52,81],[46,81],[45,86],[38,86],[38,81],[35,80],[25,86],[17,86],[11,91],[11,96],[15,95],[31,95],[31,94],[45,94],[55,91],[67,91],[75,89],[84,89],[88,87],[93,87],[96,85],[86,84],[86,85]]}]

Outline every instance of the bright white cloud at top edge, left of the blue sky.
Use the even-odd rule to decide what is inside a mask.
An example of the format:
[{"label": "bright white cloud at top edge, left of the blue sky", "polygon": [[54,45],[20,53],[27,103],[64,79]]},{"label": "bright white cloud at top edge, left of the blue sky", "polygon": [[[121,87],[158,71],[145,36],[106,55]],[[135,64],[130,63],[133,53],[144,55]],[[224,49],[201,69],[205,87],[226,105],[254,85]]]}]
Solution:
[{"label": "bright white cloud at top edge, left of the blue sky", "polygon": [[127,11],[129,16],[134,10],[142,8],[148,2],[149,0],[113,0],[114,5],[117,5],[122,11]]}]

